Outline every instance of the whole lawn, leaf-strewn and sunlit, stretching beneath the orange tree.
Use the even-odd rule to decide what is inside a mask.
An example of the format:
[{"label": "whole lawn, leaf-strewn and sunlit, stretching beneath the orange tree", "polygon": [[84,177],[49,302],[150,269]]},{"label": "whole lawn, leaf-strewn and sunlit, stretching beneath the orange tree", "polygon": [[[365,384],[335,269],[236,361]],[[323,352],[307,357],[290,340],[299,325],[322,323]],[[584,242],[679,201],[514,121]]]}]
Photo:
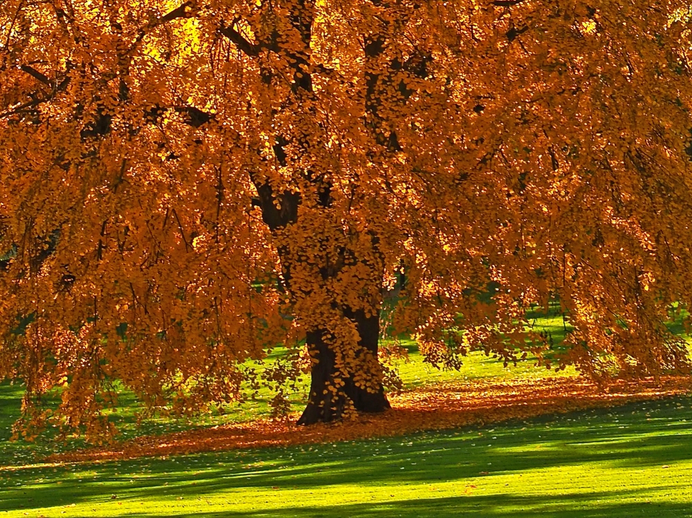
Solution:
[{"label": "whole lawn, leaf-strewn and sunlit, stretching beneath the orange tree", "polygon": [[132,402],[118,412],[125,443],[80,454],[78,441],[7,441],[21,392],[2,385],[0,517],[692,517],[684,384],[602,393],[569,369],[477,353],[437,371],[405,345],[393,411],[311,434],[264,419],[262,394],[139,430]]}]

